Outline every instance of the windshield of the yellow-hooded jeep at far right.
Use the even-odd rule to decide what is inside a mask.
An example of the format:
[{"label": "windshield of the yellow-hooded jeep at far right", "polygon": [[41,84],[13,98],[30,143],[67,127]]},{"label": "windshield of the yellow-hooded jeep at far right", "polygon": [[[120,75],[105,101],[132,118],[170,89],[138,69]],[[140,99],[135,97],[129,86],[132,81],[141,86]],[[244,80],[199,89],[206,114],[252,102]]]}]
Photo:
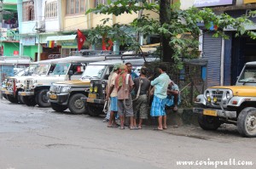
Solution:
[{"label": "windshield of the yellow-hooded jeep at far right", "polygon": [[256,66],[246,66],[238,82],[256,82]]}]

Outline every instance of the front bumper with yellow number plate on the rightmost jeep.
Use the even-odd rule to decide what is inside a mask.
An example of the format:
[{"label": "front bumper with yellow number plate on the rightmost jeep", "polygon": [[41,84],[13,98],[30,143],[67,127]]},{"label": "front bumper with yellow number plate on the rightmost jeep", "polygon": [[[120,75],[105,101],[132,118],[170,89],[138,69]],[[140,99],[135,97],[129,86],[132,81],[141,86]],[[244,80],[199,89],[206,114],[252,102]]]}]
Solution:
[{"label": "front bumper with yellow number plate on the rightmost jeep", "polygon": [[228,111],[228,110],[193,108],[193,113],[198,113],[201,115],[212,115],[212,116],[218,116],[218,117],[224,117],[224,118],[230,118],[230,119],[236,118],[236,111]]}]

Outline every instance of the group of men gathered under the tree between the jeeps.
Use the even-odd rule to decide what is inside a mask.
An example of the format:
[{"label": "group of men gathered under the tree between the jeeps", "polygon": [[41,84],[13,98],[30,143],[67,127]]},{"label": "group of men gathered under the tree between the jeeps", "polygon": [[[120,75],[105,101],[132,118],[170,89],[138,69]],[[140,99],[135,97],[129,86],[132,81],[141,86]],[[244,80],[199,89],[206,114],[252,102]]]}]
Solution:
[{"label": "group of men gathered under the tree between the jeeps", "polygon": [[[116,64],[108,77],[107,97],[110,102],[108,127],[119,127],[116,118],[119,117],[120,129],[125,129],[125,118],[128,118],[130,130],[142,129],[143,120],[148,119],[148,97],[154,96],[150,115],[157,117],[157,130],[167,128],[166,105],[177,110],[179,90],[166,74],[166,65],[158,66],[160,76],[153,81],[148,80],[148,69],[143,67],[140,76],[132,71],[131,63]],[[137,118],[138,125],[137,125]]]}]

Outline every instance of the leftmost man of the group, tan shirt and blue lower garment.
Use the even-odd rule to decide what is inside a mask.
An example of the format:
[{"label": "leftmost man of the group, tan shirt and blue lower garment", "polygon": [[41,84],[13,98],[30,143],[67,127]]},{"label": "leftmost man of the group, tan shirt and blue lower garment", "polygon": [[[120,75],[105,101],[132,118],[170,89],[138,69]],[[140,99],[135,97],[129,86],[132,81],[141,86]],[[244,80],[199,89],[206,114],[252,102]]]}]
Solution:
[{"label": "leftmost man of the group, tan shirt and blue lower garment", "polygon": [[[108,121],[108,127],[118,127],[115,121],[115,115],[118,111],[118,99],[117,99],[117,88],[115,86],[115,79],[119,74],[119,67],[121,64],[113,65],[113,70],[108,76],[108,87],[107,87],[107,97],[110,96],[110,117]],[[109,101],[109,100],[108,100]]]}]

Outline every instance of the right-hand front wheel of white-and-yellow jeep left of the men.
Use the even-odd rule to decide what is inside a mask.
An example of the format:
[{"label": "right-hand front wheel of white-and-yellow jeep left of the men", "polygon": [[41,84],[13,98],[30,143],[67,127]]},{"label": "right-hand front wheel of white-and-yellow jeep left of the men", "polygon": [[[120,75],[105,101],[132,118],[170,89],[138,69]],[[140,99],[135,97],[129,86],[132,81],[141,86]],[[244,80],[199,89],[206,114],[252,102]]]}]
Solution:
[{"label": "right-hand front wheel of white-and-yellow jeep left of the men", "polygon": [[68,109],[75,115],[84,114],[86,112],[84,102],[81,98],[86,98],[83,93],[73,94],[68,101]]}]

